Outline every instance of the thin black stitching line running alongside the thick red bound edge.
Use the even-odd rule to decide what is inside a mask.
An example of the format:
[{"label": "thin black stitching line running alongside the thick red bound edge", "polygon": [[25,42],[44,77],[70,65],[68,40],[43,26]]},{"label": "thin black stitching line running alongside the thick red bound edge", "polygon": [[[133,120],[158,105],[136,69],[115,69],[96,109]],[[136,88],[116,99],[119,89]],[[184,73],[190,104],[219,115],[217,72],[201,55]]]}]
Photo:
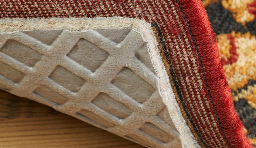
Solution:
[{"label": "thin black stitching line running alongside the thick red bound edge", "polygon": [[221,125],[220,118],[219,118],[219,116],[218,116],[218,114],[217,114],[217,111],[216,111],[216,108],[215,108],[215,105],[214,105],[214,102],[213,102],[213,99],[212,99],[212,96],[211,96],[211,92],[210,92],[209,87],[208,87],[208,85],[207,85],[207,80],[206,80],[206,78],[205,78],[204,68],[203,68],[203,64],[202,64],[202,61],[201,61],[200,53],[199,53],[198,48],[197,48],[197,45],[196,45],[196,40],[194,39],[194,36],[193,36],[193,34],[192,34],[192,32],[191,32],[190,25],[189,25],[189,23],[188,23],[187,17],[185,16],[185,14],[184,14],[184,12],[183,12],[183,9],[182,9],[181,5],[180,5],[180,3],[179,3],[179,0],[176,0],[176,1],[177,1],[178,5],[179,5],[179,7],[180,7],[180,11],[181,11],[181,13],[183,14],[183,17],[184,17],[185,21],[186,21],[186,23],[187,23],[189,33],[190,33],[191,38],[192,38],[192,40],[193,40],[193,43],[194,43],[194,45],[195,45],[195,48],[196,48],[196,51],[197,51],[196,53],[197,53],[198,59],[199,59],[199,61],[200,61],[200,67],[201,67],[201,70],[202,70],[202,72],[203,72],[203,79],[204,79],[204,81],[205,81],[204,83],[205,83],[205,85],[206,85],[206,89],[207,89],[207,91],[208,91],[208,95],[210,96],[210,100],[211,100],[211,104],[213,105],[214,113],[216,114],[216,118],[217,118],[217,121],[218,121],[218,123],[219,123],[219,125],[220,125],[220,128],[221,128],[222,134],[223,134],[223,136],[224,136],[224,139],[227,141],[227,144],[228,144],[229,147],[231,148],[231,145],[230,145],[230,143],[229,143],[229,141],[228,141],[228,139],[227,139],[227,137],[226,137],[226,135],[225,135],[225,133],[224,133],[223,127],[222,127],[222,125]]}]

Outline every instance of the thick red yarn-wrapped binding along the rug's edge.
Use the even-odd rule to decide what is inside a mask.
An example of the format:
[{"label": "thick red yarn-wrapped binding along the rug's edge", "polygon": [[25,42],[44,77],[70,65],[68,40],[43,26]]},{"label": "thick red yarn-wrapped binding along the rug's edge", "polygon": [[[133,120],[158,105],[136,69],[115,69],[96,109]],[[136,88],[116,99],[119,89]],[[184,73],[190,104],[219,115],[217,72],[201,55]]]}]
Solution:
[{"label": "thick red yarn-wrapped binding along the rug's edge", "polygon": [[217,40],[206,10],[200,0],[180,0],[179,4],[200,53],[207,85],[227,141],[233,148],[251,148],[252,145],[244,134],[243,124],[234,109],[231,90],[219,61]]}]

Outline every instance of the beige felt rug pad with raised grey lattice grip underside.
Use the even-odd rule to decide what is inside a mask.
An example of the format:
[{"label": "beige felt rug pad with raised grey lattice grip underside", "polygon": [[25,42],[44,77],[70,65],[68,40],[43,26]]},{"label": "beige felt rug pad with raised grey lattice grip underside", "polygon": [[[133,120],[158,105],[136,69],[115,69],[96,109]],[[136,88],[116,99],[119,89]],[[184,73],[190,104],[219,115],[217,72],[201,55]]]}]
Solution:
[{"label": "beige felt rug pad with raised grey lattice grip underside", "polygon": [[150,24],[0,20],[0,88],[146,147],[198,147]]}]

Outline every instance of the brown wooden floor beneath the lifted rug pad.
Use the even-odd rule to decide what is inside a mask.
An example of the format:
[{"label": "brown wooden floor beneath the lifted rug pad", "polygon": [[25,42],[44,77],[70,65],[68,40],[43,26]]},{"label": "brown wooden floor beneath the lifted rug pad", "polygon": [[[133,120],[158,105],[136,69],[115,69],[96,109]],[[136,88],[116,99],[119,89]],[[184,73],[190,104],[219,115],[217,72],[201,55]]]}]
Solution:
[{"label": "brown wooden floor beneath the lifted rug pad", "polygon": [[0,90],[0,148],[144,148]]}]

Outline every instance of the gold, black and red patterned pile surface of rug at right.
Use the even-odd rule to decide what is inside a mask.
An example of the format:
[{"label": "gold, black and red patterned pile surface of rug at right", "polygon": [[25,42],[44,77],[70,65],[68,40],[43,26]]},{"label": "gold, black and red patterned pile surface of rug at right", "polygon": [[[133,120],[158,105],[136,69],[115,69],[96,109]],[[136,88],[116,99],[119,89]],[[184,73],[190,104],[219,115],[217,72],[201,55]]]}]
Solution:
[{"label": "gold, black and red patterned pile surface of rug at right", "polygon": [[244,132],[256,145],[256,1],[205,0]]}]

